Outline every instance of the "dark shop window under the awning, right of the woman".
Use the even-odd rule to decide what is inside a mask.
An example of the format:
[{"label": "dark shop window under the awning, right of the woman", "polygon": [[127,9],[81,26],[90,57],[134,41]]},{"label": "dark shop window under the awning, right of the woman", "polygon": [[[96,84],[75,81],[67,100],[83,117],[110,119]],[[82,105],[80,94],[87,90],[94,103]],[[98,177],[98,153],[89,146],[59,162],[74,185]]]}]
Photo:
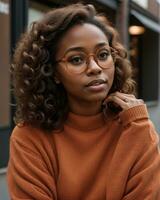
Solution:
[{"label": "dark shop window under the awning, right of the woman", "polygon": [[[143,16],[141,18],[143,20]],[[131,26],[143,28],[140,34],[130,34],[130,58],[135,70],[137,96],[148,105],[158,102],[159,26],[147,18],[144,21],[132,15]],[[144,22],[144,23],[142,23]]]}]

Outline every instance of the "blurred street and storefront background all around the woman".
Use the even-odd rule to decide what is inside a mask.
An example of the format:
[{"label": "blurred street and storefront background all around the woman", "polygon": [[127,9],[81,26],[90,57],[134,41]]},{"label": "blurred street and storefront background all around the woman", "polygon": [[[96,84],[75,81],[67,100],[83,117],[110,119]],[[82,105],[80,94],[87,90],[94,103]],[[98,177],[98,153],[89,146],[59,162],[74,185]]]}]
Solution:
[{"label": "blurred street and storefront background all around the woman", "polygon": [[[0,200],[9,200],[6,170],[14,127],[9,74],[16,42],[29,25],[52,8],[76,0],[0,0]],[[160,133],[160,0],[84,0],[118,29],[135,71],[137,97],[145,101]]]}]

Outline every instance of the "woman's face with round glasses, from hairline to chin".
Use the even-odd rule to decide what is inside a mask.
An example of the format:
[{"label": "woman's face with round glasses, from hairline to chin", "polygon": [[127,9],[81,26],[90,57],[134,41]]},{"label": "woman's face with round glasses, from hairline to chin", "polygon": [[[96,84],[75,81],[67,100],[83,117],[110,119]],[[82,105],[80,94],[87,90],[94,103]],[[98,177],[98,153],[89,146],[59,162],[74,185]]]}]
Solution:
[{"label": "woman's face with round glasses, from hairline to chin", "polygon": [[56,79],[64,85],[69,103],[104,100],[115,69],[107,36],[98,27],[85,23],[69,29],[58,43],[56,60]]}]

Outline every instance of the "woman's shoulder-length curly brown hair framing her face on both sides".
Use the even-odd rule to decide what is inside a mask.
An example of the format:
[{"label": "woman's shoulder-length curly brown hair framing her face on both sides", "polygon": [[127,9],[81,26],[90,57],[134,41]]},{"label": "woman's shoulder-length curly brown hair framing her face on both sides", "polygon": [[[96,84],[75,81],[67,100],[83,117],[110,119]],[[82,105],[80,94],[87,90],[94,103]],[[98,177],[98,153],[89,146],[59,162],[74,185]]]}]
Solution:
[{"label": "woman's shoulder-length curly brown hair framing her face on both sides", "polygon": [[67,95],[56,84],[55,54],[58,41],[76,24],[91,23],[107,36],[115,63],[111,92],[134,92],[132,69],[117,31],[94,6],[81,3],[51,10],[33,22],[18,42],[11,65],[17,108],[15,123],[55,130],[63,127],[68,114]]}]

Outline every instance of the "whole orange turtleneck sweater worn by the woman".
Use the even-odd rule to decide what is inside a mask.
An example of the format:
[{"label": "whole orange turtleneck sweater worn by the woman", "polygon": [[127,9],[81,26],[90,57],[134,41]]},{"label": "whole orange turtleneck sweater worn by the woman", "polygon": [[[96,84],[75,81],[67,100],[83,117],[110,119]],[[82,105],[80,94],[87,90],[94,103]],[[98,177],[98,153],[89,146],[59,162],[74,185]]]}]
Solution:
[{"label": "whole orange turtleneck sweater worn by the woman", "polygon": [[7,175],[12,200],[160,200],[158,136],[144,105],[70,113],[61,132],[16,127]]}]

